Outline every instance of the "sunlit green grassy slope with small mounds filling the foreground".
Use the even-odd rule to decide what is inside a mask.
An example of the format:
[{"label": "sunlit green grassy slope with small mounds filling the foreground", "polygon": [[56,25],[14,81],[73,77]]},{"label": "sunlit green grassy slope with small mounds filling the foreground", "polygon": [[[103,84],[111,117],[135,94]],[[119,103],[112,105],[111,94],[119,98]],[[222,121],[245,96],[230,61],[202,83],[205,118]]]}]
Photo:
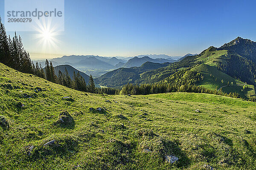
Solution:
[{"label": "sunlit green grassy slope with small mounds filling the foreground", "polygon": [[[253,102],[189,93],[89,94],[3,64],[0,86],[3,170],[247,170],[256,166]],[[99,107],[101,111],[94,110]],[[179,160],[168,163],[165,156]]]}]

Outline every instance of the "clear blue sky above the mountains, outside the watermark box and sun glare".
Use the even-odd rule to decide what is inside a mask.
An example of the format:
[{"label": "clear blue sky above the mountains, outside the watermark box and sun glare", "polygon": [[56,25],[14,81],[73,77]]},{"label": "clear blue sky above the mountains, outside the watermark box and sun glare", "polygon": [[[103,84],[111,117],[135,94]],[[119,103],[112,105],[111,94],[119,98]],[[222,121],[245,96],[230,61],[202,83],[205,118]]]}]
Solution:
[{"label": "clear blue sky above the mountains, outside the watermark box and sun glare", "polygon": [[[182,56],[238,36],[256,40],[255,6],[255,0],[65,0],[58,49],[42,52],[31,32],[17,33],[30,53]],[[0,0],[2,18],[3,11]]]}]

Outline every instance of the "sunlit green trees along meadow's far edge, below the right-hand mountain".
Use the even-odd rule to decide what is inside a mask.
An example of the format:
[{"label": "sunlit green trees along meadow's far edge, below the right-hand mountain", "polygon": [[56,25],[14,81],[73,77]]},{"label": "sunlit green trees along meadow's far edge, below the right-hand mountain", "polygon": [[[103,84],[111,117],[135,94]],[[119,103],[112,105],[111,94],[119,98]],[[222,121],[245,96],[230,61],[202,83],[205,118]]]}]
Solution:
[{"label": "sunlit green trees along meadow's far edge, below the right-hand mountain", "polygon": [[241,96],[236,92],[227,94],[221,90],[210,90],[208,88],[198,86],[197,83],[200,82],[202,79],[204,79],[204,77],[202,76],[201,73],[191,71],[190,68],[187,68],[177,71],[172,76],[158,83],[148,83],[142,85],[133,85],[128,83],[122,88],[120,94],[147,95],[171,92],[190,92],[216,94],[221,96],[229,96],[233,98],[241,98]]}]

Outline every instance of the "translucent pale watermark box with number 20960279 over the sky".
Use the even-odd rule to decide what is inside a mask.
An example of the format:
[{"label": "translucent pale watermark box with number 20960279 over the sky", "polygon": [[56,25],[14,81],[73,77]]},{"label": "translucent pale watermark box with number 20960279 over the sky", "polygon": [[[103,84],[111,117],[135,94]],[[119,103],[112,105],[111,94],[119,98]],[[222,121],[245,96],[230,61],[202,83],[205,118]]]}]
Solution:
[{"label": "translucent pale watermark box with number 20960279 over the sky", "polygon": [[64,0],[5,0],[6,31],[64,31]]}]

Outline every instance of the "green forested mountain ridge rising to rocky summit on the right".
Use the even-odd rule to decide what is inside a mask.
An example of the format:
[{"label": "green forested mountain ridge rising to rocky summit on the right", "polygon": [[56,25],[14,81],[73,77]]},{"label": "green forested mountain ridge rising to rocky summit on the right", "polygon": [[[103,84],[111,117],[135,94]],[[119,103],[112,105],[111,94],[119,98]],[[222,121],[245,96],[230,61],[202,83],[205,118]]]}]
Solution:
[{"label": "green forested mountain ridge rising to rocky summit on the right", "polygon": [[[125,65],[129,67],[128,64],[134,60],[138,62],[137,65],[140,65],[139,61],[143,62],[143,58],[148,59],[148,57],[134,57],[129,59]],[[141,69],[141,67],[136,69]],[[134,68],[119,68],[102,75],[97,80],[101,85],[120,87],[127,82],[136,84],[171,82],[173,77],[179,75],[179,72],[179,76],[193,73],[201,76],[196,80],[197,85],[212,90],[220,88],[228,93],[237,92],[246,98],[255,94],[256,42],[237,37],[219,48],[210,46],[200,54],[187,54],[179,61],[169,63],[164,67],[138,71],[136,76],[133,76],[135,74],[132,70]],[[125,80],[121,81],[124,77]],[[232,86],[230,86],[231,84]],[[249,85],[250,88],[244,90],[243,85]]]}]

